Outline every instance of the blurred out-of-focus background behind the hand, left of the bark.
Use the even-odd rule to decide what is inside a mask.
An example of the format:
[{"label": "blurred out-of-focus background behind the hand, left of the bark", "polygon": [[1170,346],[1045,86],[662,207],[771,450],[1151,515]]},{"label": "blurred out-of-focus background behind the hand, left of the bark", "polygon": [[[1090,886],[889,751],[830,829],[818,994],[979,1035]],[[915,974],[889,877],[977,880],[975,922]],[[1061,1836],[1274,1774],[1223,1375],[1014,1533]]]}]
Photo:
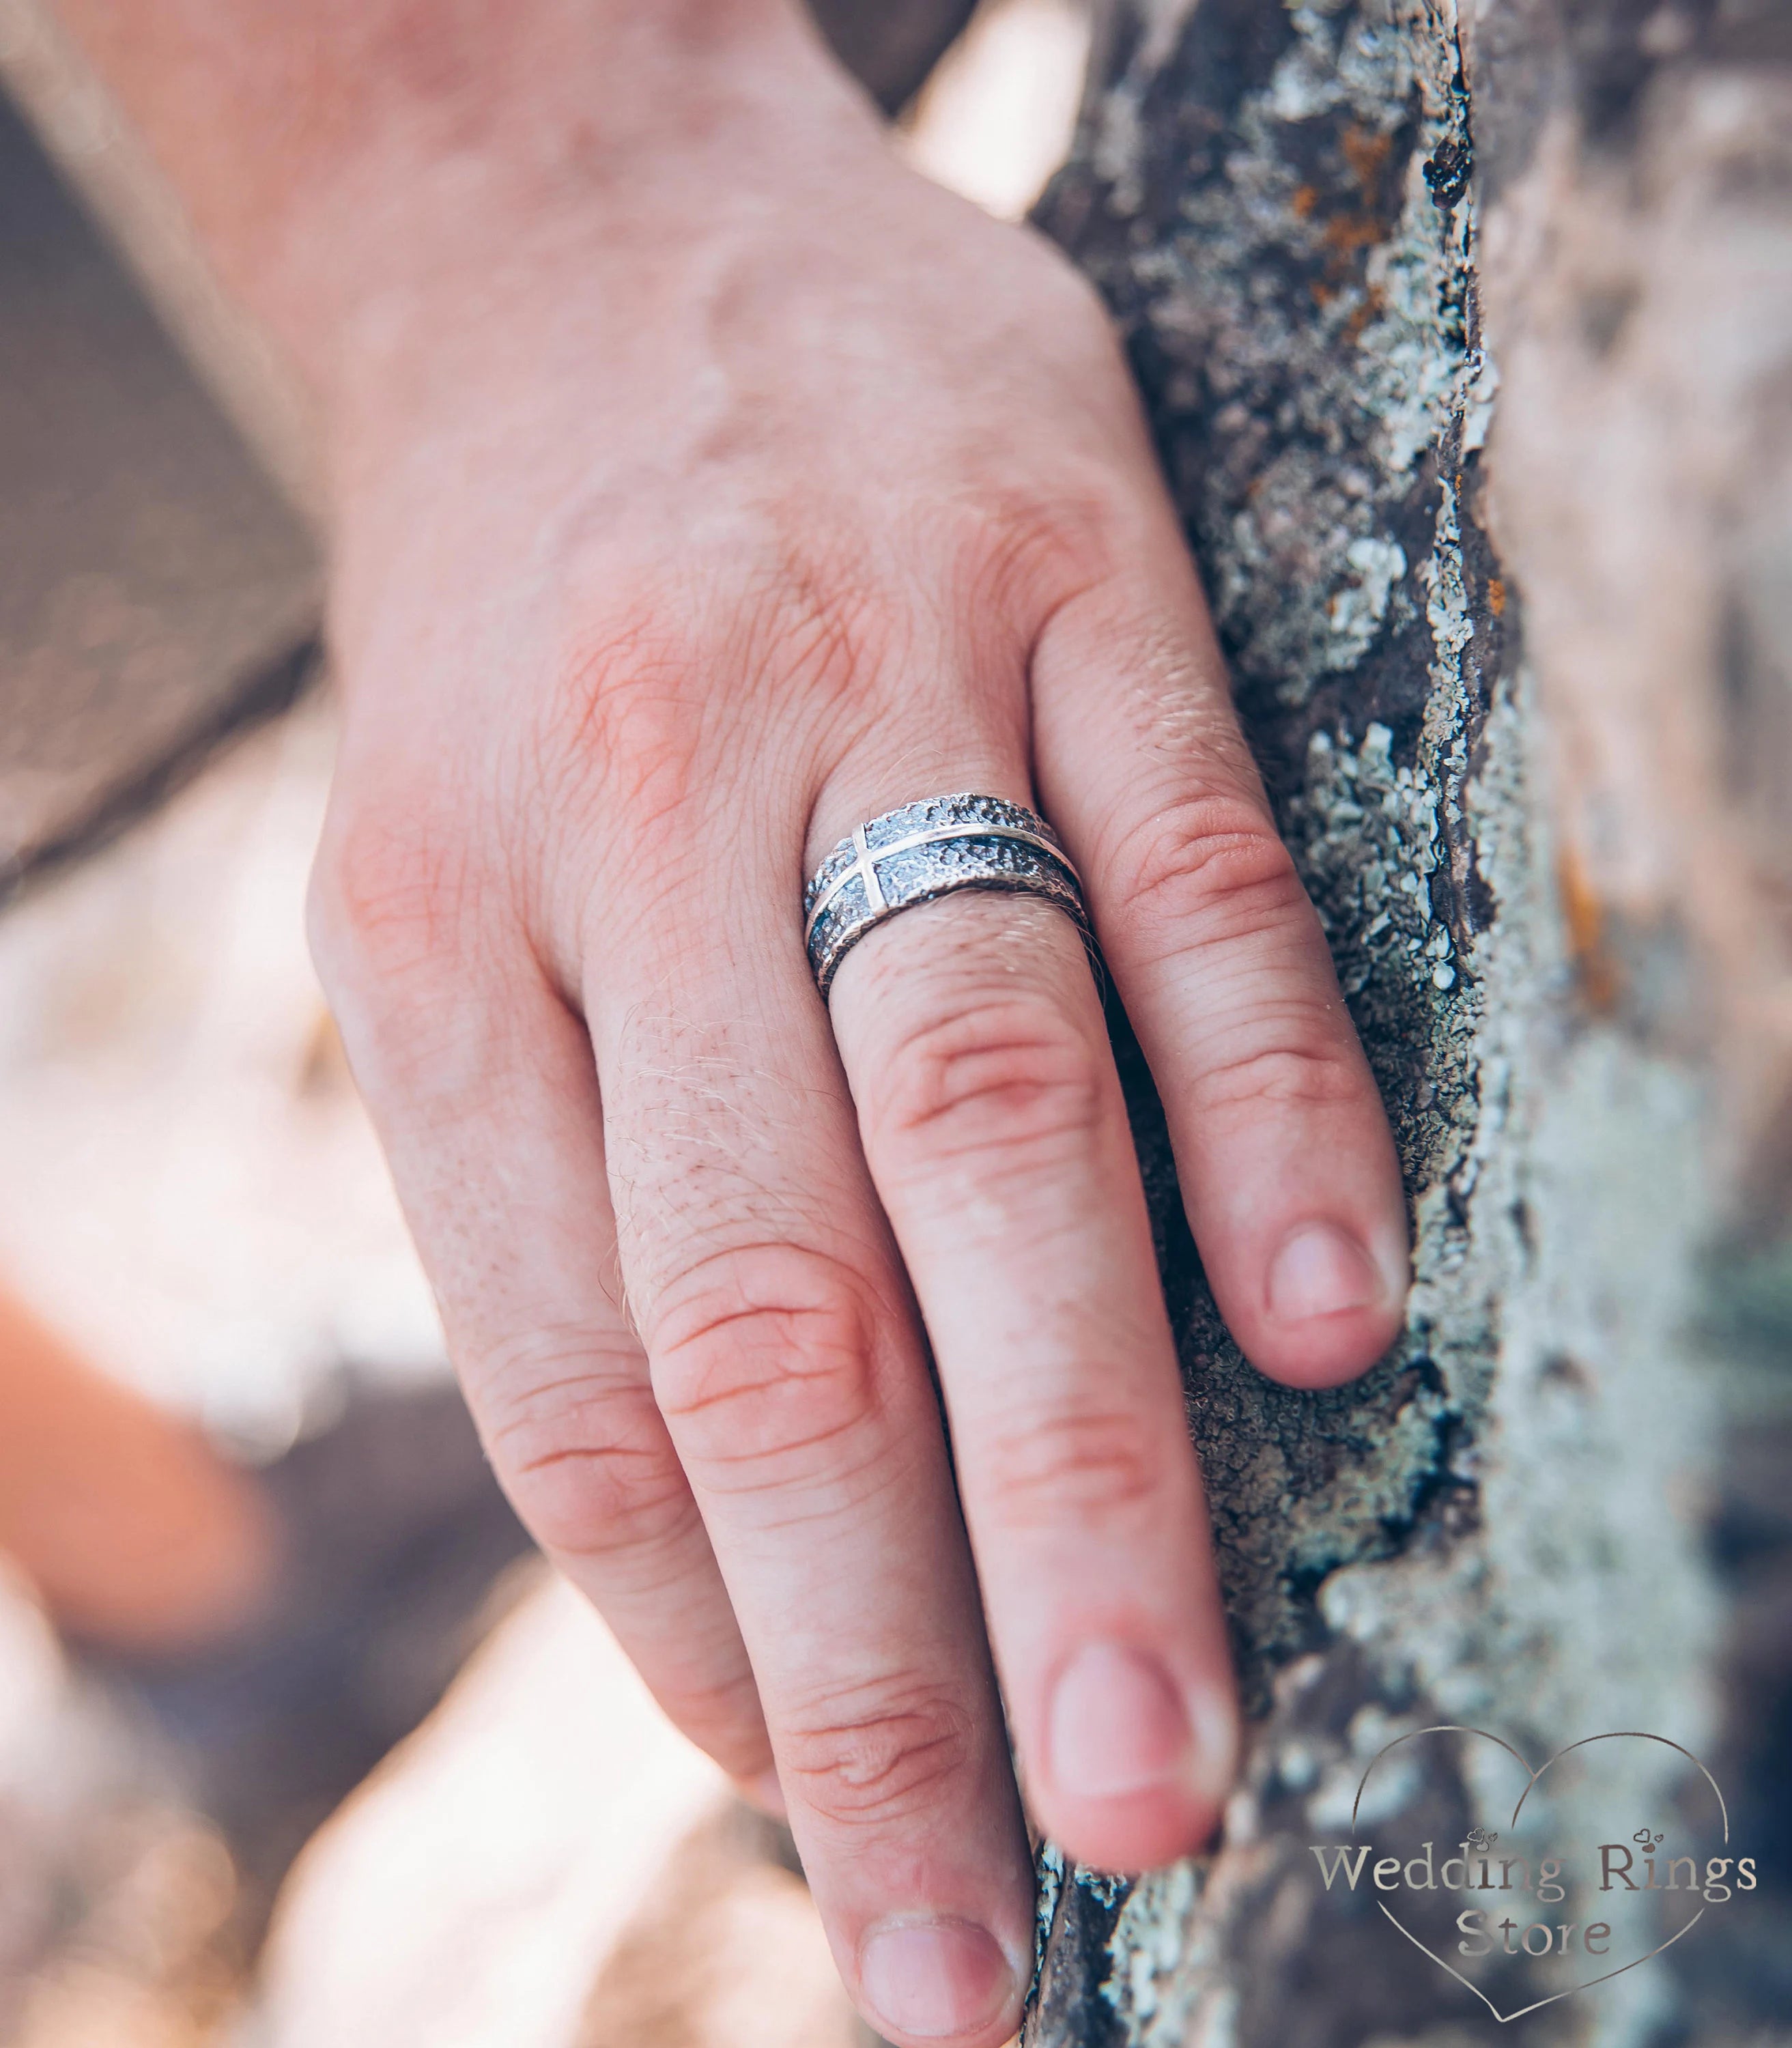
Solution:
[{"label": "blurred out-of-focus background behind the hand, left of the bark", "polygon": [[[1018,217],[1085,55],[987,0],[899,145]],[[0,84],[0,2044],[862,2040],[453,1393],[305,954],[303,408],[35,0]]]}]

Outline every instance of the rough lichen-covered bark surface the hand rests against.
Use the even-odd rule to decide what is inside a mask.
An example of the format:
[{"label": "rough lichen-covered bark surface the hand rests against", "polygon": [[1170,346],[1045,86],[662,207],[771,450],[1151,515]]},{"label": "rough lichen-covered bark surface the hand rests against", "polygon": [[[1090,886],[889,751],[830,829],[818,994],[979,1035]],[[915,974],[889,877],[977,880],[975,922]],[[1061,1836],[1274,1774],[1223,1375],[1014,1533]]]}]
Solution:
[{"label": "rough lichen-covered bark surface the hand rests against", "polygon": [[[1257,1380],[1130,1061],[1257,1724],[1217,1855],[1047,1851],[1034,2048],[1792,2038],[1788,59],[1774,0],[1108,14],[1040,219],[1124,328],[1419,1284],[1360,1386]],[[1430,1722],[1688,1745],[1763,1890],[1497,2028],[1309,1853]],[[1563,1827],[1710,1833],[1663,1745],[1599,1757]],[[1405,1790],[1415,1841],[1501,1825],[1444,1745]]]}]

